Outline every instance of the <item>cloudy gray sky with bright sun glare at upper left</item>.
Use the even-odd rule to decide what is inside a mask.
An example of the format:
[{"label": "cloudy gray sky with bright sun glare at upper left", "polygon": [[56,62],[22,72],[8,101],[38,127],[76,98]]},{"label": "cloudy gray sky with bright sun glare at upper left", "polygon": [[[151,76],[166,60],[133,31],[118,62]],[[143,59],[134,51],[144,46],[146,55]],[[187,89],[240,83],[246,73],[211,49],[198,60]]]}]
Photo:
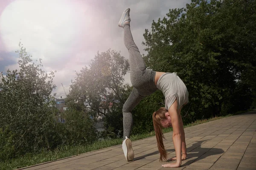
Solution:
[{"label": "cloudy gray sky with bright sun glare at upper left", "polygon": [[[0,0],[0,72],[18,69],[21,41],[27,52],[43,59],[44,70],[57,71],[56,97],[65,97],[75,71],[88,66],[97,51],[121,51],[123,29],[118,27],[122,11],[131,8],[131,31],[141,54],[143,33],[152,20],[166,16],[170,8],[182,8],[191,0]],[[21,39],[21,40],[20,40]],[[130,74],[125,82],[131,83]]]}]

